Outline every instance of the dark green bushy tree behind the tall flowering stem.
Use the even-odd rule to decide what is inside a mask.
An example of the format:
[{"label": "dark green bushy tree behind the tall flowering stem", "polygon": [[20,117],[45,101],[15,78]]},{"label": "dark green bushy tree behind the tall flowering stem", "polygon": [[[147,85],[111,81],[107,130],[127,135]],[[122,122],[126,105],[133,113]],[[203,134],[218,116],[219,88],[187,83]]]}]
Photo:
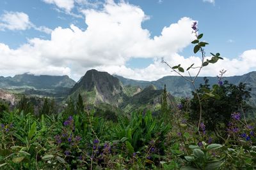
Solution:
[{"label": "dark green bushy tree behind the tall flowering stem", "polygon": [[[204,124],[207,129],[214,130],[220,123],[227,125],[232,113],[242,111],[249,107],[246,101],[251,97],[250,89],[246,89],[245,83],[234,85],[224,81],[223,84],[213,85],[212,89],[208,84],[209,80],[204,78],[205,84],[200,84],[197,92],[202,99],[202,116]],[[214,97],[205,97],[205,91],[210,92],[214,89],[214,97],[218,96],[219,99]],[[191,99],[191,111],[189,117],[191,120],[198,119],[198,100],[196,93],[192,92],[193,98]]]}]

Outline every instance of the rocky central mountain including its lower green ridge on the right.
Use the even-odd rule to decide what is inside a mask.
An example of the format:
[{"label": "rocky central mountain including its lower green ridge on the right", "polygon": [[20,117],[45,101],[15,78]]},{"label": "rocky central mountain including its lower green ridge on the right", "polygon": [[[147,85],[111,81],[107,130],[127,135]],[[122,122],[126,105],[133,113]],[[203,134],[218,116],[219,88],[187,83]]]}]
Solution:
[{"label": "rocky central mountain including its lower green ridge on the right", "polygon": [[[124,112],[130,112],[140,108],[155,110],[161,102],[162,92],[163,90],[156,90],[154,85],[143,90],[136,86],[124,86],[115,76],[92,69],[74,85],[69,97],[76,100],[81,94],[88,104],[104,108],[108,104],[109,108],[115,106]],[[113,112],[113,108],[111,110]]]}]

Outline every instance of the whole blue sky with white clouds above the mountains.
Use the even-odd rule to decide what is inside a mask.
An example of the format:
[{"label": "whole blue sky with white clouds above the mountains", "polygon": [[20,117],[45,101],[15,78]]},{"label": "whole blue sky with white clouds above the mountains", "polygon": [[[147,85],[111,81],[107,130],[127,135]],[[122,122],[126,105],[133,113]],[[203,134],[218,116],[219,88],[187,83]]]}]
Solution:
[{"label": "whole blue sky with white clouds above the mountains", "polygon": [[223,57],[200,76],[245,74],[256,71],[255,7],[255,0],[1,0],[0,76],[77,81],[89,69],[135,80],[177,75],[161,60],[200,66],[191,44],[195,21],[209,43],[205,56]]}]

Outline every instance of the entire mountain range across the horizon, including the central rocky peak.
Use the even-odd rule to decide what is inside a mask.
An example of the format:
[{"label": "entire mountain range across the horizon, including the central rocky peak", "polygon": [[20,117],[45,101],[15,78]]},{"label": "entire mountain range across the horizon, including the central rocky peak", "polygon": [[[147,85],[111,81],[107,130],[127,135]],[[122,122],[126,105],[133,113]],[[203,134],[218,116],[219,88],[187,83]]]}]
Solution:
[{"label": "entire mountain range across the horizon, including the central rocky peak", "polygon": [[[218,83],[216,77],[207,78],[210,85]],[[223,80],[236,85],[239,82],[246,83],[248,88],[252,88],[251,103],[256,106],[256,71],[242,76],[223,77]],[[196,87],[200,83],[204,83],[204,77],[197,78]],[[0,89],[10,94],[50,96],[58,101],[65,101],[68,97],[76,100],[78,94],[81,94],[86,103],[98,106],[107,104],[125,111],[132,111],[141,106],[155,110],[161,102],[164,84],[167,91],[176,97],[189,97],[193,91],[192,85],[180,76],[165,76],[156,81],[140,81],[95,69],[87,71],[77,83],[68,76],[33,74],[19,74],[6,78],[0,76]]]}]

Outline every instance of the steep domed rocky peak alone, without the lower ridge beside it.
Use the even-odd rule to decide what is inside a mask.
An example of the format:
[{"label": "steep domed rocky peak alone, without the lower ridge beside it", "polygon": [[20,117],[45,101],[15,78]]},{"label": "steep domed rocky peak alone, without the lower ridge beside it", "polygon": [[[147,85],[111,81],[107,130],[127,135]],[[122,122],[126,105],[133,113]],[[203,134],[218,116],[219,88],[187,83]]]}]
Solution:
[{"label": "steep domed rocky peak alone, without the lower ridge beside it", "polygon": [[118,78],[95,69],[87,71],[71,89],[70,97],[76,99],[78,94],[90,104],[107,103],[113,106],[118,106],[125,97],[124,87]]}]

